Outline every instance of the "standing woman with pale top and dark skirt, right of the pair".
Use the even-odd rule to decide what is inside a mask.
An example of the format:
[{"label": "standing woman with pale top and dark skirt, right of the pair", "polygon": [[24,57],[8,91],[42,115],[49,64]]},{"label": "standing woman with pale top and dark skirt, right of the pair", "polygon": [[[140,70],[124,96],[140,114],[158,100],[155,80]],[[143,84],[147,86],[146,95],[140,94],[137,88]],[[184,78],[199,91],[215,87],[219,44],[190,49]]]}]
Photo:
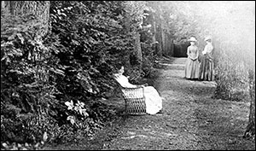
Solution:
[{"label": "standing woman with pale top and dark skirt, right of the pair", "polygon": [[212,57],[212,39],[210,37],[205,38],[207,45],[202,51],[201,64],[199,70],[199,79],[206,81],[214,80],[214,70],[213,70],[213,57]]}]

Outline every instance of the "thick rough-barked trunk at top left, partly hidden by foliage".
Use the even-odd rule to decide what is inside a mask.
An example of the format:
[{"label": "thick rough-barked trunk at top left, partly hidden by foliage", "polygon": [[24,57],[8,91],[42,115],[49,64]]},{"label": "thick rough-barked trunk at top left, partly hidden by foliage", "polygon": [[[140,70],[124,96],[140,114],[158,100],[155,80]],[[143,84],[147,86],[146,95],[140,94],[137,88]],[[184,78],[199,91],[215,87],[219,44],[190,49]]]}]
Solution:
[{"label": "thick rough-barked trunk at top left, partly hidden by foliage", "polygon": [[[4,1],[1,5],[1,10],[4,9],[4,13],[8,15],[18,16],[19,18],[25,18],[27,15],[35,16],[39,22],[39,29],[34,33],[33,40],[42,41],[49,30],[49,1]],[[44,59],[44,55],[37,49],[30,49],[27,59],[33,62],[40,61]],[[44,67],[38,67],[35,76],[42,81],[48,81],[47,70]]]}]

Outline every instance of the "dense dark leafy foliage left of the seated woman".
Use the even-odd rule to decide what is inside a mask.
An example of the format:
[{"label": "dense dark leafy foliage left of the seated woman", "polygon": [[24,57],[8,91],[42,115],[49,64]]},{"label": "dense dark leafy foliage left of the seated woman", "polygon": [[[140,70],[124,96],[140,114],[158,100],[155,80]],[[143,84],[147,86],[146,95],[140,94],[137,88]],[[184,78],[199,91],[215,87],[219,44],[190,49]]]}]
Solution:
[{"label": "dense dark leafy foliage left of the seated woman", "polygon": [[137,20],[125,26],[123,2],[50,7],[50,32],[39,39],[37,16],[1,16],[1,142],[64,142],[113,118],[103,101],[134,51]]}]

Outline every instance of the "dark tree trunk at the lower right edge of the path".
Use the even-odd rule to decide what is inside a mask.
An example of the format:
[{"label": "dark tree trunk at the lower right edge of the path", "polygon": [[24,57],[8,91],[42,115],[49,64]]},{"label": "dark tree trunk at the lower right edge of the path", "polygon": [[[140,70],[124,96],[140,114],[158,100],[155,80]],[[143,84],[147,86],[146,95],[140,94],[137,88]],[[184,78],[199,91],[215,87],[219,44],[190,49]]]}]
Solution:
[{"label": "dark tree trunk at the lower right edge of the path", "polygon": [[255,137],[255,71],[249,72],[251,106],[245,137]]}]

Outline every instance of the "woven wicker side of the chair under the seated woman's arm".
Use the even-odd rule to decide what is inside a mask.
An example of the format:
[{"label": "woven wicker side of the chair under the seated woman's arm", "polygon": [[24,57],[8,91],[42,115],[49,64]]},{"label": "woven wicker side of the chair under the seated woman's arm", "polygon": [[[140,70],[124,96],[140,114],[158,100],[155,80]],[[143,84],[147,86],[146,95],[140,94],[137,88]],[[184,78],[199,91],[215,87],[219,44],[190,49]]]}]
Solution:
[{"label": "woven wicker side of the chair under the seated woman's arm", "polygon": [[122,95],[125,98],[126,114],[145,114],[146,103],[144,96],[144,88],[124,88],[121,87]]}]

